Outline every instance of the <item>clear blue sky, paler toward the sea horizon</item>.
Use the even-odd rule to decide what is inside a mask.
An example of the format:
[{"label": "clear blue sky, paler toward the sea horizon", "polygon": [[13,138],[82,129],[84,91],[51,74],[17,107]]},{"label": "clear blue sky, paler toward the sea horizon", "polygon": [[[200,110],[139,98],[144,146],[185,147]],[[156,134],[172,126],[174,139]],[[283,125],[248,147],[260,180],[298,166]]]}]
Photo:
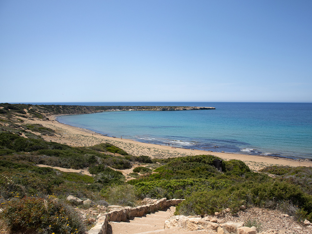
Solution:
[{"label": "clear blue sky, paler toward the sea horizon", "polygon": [[0,102],[312,102],[312,1],[0,1]]}]

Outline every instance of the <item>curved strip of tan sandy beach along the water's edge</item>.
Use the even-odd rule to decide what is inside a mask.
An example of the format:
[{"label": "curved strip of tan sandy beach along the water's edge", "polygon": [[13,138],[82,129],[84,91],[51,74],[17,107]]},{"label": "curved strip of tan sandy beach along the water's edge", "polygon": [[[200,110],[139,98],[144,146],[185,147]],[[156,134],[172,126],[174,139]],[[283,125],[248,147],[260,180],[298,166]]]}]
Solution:
[{"label": "curved strip of tan sandy beach along the water's edge", "polygon": [[[203,150],[190,150],[182,148],[172,148],[171,146],[141,143],[130,139],[120,139],[103,136],[88,129],[81,129],[67,124],[61,124],[55,120],[56,116],[50,116],[49,120],[30,120],[26,121],[33,124],[42,124],[45,127],[56,131],[56,136],[42,136],[47,141],[54,141],[70,146],[91,146],[108,142],[124,149],[127,153],[134,156],[147,155],[151,158],[168,158],[187,155],[211,154],[225,160],[239,159],[245,162],[252,170],[259,170],[265,166],[305,166],[311,167],[312,161],[294,160],[289,158],[277,158],[271,156],[255,156],[246,154],[232,154],[220,152],[208,152]],[[25,122],[26,122],[25,121]]]}]

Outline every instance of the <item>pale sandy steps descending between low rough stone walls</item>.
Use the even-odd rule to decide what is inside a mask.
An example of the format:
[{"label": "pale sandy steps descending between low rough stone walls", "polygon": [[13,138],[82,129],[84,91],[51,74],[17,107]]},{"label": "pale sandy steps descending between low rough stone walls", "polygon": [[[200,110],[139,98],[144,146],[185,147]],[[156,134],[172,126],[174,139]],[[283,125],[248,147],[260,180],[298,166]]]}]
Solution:
[{"label": "pale sandy steps descending between low rough stone walls", "polygon": [[173,216],[175,207],[168,207],[164,211],[134,217],[128,222],[108,222],[107,234],[191,234],[209,233],[205,230],[188,231],[183,228],[164,229],[165,221]]}]

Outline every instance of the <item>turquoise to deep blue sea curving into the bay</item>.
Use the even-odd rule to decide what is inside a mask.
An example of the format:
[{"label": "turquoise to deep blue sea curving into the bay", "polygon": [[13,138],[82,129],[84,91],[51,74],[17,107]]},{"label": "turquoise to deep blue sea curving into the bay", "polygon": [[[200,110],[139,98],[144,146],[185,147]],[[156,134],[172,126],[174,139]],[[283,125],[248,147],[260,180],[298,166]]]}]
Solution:
[{"label": "turquoise to deep blue sea curving into the bay", "polygon": [[186,149],[312,159],[312,103],[62,102],[45,105],[205,106],[215,110],[111,111],[63,115],[64,124]]}]

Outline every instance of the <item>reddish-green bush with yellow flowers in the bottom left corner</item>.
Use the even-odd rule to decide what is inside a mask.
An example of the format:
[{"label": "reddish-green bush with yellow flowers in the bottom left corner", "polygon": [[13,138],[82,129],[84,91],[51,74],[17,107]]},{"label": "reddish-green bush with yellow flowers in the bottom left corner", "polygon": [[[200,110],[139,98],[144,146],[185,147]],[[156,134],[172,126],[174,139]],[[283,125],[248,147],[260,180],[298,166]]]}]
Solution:
[{"label": "reddish-green bush with yellow flowers in the bottom left corner", "polygon": [[78,212],[57,200],[25,197],[2,204],[3,217],[11,232],[85,233]]}]

